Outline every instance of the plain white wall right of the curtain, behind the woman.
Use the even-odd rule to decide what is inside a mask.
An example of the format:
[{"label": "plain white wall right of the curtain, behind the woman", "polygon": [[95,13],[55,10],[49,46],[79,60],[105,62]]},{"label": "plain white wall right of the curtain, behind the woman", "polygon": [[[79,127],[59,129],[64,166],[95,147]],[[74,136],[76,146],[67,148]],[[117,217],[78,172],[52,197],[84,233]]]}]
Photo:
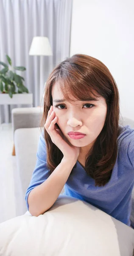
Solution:
[{"label": "plain white wall right of the curtain, behind the woman", "polygon": [[73,0],[70,56],[75,53],[109,68],[120,113],[134,119],[134,0]]}]

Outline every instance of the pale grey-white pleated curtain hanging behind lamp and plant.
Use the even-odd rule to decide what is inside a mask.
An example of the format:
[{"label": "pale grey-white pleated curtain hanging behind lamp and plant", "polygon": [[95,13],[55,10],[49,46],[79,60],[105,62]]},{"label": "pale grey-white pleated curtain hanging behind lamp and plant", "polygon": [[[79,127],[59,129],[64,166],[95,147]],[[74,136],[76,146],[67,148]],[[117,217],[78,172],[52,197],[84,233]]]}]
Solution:
[{"label": "pale grey-white pleated curtain hanging behind lamp and plant", "polygon": [[[25,79],[24,85],[33,93],[33,106],[40,105],[40,64],[42,80],[47,80],[53,68],[70,52],[72,0],[0,0],[0,61],[6,54],[13,66],[24,66],[16,71]],[[53,56],[28,55],[33,36],[46,36]],[[1,106],[2,122],[11,122],[12,108],[26,105]],[[9,117],[8,117],[9,116]]]}]

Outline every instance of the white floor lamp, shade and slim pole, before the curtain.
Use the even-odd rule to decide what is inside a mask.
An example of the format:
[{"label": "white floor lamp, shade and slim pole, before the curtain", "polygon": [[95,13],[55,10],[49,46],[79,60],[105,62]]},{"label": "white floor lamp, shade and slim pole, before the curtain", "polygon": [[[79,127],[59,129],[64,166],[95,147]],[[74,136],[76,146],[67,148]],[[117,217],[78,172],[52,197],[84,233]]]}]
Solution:
[{"label": "white floor lamp, shade and slim pole, before the curtain", "polygon": [[[38,55],[38,56],[51,56],[53,55],[50,43],[47,37],[44,36],[35,36],[33,37],[31,47],[29,50],[29,55]],[[40,57],[40,102],[42,99],[42,94],[45,87],[45,81],[43,79],[43,58]]]}]

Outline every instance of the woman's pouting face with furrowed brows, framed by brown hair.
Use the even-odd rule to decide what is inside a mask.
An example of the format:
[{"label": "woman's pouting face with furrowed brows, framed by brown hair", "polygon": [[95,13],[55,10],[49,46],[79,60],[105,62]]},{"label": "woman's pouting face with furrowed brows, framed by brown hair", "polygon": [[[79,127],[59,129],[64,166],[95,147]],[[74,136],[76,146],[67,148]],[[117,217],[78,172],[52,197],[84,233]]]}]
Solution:
[{"label": "woman's pouting face with furrowed brows, framed by brown hair", "polygon": [[[72,145],[81,147],[80,154],[86,153],[103,129],[107,113],[106,100],[99,97],[97,101],[79,101],[70,97],[75,102],[55,102],[63,99],[57,83],[53,84],[52,98],[53,110],[58,117],[57,124],[62,133]],[[70,131],[80,132],[86,134],[86,136],[74,140],[67,134]]]}]

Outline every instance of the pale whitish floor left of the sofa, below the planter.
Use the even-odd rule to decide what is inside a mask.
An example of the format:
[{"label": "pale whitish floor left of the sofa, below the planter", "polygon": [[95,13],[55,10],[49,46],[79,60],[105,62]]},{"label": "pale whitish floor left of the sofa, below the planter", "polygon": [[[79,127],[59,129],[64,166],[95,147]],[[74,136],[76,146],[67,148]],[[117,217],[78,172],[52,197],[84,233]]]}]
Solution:
[{"label": "pale whitish floor left of the sofa, below the planter", "polygon": [[3,123],[0,125],[0,223],[16,217],[13,177],[17,165],[12,149],[12,125]]}]

